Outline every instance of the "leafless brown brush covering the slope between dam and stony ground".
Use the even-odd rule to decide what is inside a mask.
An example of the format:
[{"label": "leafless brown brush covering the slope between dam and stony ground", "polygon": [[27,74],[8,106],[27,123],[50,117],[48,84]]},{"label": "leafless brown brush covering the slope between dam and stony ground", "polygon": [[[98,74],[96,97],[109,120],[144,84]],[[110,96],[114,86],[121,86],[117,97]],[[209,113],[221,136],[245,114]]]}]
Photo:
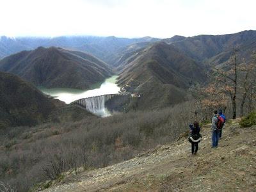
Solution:
[{"label": "leafless brown brush covering the slope between dam and stony ground", "polygon": [[[0,129],[0,182],[17,191],[28,191],[69,170],[87,172],[127,161],[145,150],[175,141],[193,119],[191,106],[193,103],[184,103],[106,118],[76,113],[76,118],[83,116],[77,122],[65,122],[72,116],[60,119],[54,112],[60,124]],[[83,170],[78,169],[81,166]]]}]

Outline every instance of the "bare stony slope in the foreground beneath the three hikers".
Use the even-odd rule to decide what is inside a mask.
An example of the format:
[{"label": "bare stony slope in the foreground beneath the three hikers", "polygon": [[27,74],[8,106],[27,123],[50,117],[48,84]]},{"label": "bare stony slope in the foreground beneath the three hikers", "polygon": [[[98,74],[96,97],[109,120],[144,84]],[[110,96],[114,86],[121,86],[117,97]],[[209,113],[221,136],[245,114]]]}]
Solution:
[{"label": "bare stony slope in the foreground beneath the three hikers", "polygon": [[211,148],[205,125],[196,156],[184,135],[129,161],[68,174],[44,191],[256,191],[256,126],[238,121],[223,129],[219,148]]}]

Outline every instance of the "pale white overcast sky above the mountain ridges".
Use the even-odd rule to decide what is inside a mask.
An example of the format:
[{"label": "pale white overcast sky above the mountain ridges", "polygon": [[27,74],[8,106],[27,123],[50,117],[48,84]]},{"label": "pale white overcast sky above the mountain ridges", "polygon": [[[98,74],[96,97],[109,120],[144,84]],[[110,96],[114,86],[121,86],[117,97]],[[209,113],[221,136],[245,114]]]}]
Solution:
[{"label": "pale white overcast sky above the mountain ridges", "polygon": [[0,35],[221,35],[256,29],[255,8],[255,0],[0,0]]}]

